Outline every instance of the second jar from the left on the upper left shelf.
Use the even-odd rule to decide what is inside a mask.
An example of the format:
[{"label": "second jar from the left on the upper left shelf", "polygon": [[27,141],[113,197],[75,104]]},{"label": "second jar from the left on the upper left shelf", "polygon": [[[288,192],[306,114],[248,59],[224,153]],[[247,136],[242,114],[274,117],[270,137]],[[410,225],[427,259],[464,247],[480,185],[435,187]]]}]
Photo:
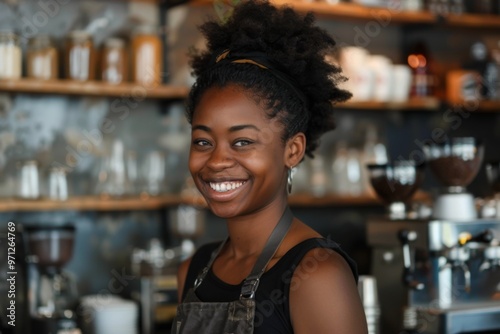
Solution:
[{"label": "second jar from the left on the upper left shelf", "polygon": [[49,36],[30,40],[26,53],[27,76],[36,79],[57,79],[59,76],[57,49]]}]

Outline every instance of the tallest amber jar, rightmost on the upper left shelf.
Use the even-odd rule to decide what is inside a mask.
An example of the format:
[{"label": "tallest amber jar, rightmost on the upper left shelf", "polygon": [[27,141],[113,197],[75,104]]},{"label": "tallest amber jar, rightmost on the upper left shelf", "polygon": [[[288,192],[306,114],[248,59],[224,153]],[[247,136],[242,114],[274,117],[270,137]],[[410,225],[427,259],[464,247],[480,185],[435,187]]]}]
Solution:
[{"label": "tallest amber jar, rightmost on the upper left shelf", "polygon": [[141,25],[132,37],[132,80],[144,86],[161,83],[163,50],[156,28]]}]

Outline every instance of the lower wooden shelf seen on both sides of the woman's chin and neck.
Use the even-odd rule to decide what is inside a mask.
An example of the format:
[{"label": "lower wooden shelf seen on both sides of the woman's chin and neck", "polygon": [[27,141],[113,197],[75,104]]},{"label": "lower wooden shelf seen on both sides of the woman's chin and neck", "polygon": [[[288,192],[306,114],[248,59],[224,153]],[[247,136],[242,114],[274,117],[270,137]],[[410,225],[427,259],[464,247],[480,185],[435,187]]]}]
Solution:
[{"label": "lower wooden shelf seen on both sides of the woman's chin and neck", "polygon": [[[429,196],[418,192],[415,200],[425,200]],[[339,207],[339,206],[380,206],[384,205],[374,195],[314,197],[310,194],[295,194],[288,199],[294,207]],[[16,211],[131,211],[160,210],[181,204],[206,207],[201,197],[181,197],[163,195],[156,197],[138,196],[124,198],[104,198],[99,196],[78,196],[66,201],[49,199],[22,200],[4,198],[0,201],[0,212]]]}]

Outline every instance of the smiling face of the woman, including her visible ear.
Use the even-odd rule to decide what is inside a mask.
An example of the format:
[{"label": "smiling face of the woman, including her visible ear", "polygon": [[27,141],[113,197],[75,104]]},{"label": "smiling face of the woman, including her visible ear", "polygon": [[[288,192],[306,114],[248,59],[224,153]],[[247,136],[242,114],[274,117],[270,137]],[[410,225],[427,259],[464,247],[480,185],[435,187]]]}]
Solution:
[{"label": "smiling face of the woman, including her visible ear", "polygon": [[193,115],[189,169],[215,215],[231,218],[286,201],[287,170],[303,149],[297,139],[284,143],[282,133],[283,125],[238,86],[204,93]]}]

